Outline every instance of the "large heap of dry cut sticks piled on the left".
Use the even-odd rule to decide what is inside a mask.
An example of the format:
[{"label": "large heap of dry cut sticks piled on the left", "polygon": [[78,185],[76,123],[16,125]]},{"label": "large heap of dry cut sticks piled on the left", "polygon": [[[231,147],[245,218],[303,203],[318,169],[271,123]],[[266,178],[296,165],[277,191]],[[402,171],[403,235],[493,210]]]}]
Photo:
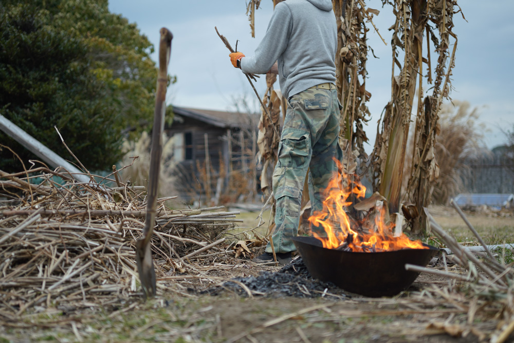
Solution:
[{"label": "large heap of dry cut sticks piled on the left", "polygon": [[[90,175],[89,175],[90,176]],[[93,179],[93,177],[91,177]],[[115,182],[108,178],[102,182]],[[74,182],[46,168],[0,171],[0,303],[15,314],[70,301],[105,303],[139,295],[134,245],[145,215],[144,187]],[[221,243],[235,214],[223,207],[171,210],[160,198],[152,250],[157,276]]]}]

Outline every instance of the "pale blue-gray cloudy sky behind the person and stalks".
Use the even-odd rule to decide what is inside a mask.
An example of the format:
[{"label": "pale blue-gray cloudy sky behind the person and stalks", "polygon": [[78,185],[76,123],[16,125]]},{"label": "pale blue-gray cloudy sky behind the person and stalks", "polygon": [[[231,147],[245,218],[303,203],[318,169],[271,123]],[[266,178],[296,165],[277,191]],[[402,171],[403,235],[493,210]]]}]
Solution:
[{"label": "pale blue-gray cloudy sky behind the person and stalks", "polygon": [[[370,138],[369,152],[375,139],[377,121],[383,107],[391,97],[391,32],[394,23],[391,8],[382,8],[382,2],[366,2],[379,9],[374,23],[388,42],[384,45],[372,26],[368,32],[369,45],[379,59],[370,54],[369,78],[366,88],[372,93],[369,102],[372,120],[365,131]],[[453,69],[454,87],[451,98],[468,101],[478,107],[480,121],[486,125],[484,132],[488,148],[505,143],[502,129],[512,129],[514,124],[514,1],[494,2],[460,1],[466,21],[455,14],[457,55]],[[256,103],[256,97],[240,70],[232,67],[229,51],[217,37],[214,26],[238,50],[252,55],[262,39],[273,11],[272,0],[262,0],[255,12],[255,38],[251,38],[243,0],[109,0],[109,10],[120,13],[132,23],[137,23],[141,33],[157,45],[159,29],[167,27],[174,35],[169,73],[178,82],[168,90],[168,102],[177,106],[212,110],[234,110],[234,98],[246,96]],[[433,46],[432,46],[433,48]],[[453,46],[451,47],[453,48]],[[424,52],[425,55],[425,52]],[[432,51],[432,56],[434,56]],[[156,61],[156,55],[153,59]],[[435,66],[435,59],[432,67]],[[398,70],[397,70],[398,72]],[[256,88],[262,96],[264,77]],[[277,82],[278,87],[278,82]]]}]

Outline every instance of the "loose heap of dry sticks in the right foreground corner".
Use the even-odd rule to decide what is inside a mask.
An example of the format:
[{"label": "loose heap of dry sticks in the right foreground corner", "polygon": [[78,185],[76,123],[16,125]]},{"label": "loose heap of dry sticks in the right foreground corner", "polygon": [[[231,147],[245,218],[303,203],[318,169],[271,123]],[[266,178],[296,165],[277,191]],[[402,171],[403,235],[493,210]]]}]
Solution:
[{"label": "loose heap of dry sticks in the right foreground corner", "polygon": [[475,316],[478,316],[479,309],[481,309],[482,314],[489,313],[486,316],[489,316],[489,320],[496,321],[494,324],[496,329],[488,334],[480,333],[479,337],[482,336],[480,338],[483,339],[489,336],[491,342],[504,342],[514,332],[514,269],[512,264],[507,265],[504,260],[495,257],[461,209],[453,201],[451,203],[478,239],[485,254],[480,258],[476,257],[473,251],[466,249],[440,227],[430,215],[428,209],[425,208],[432,232],[451,249],[454,254],[452,262],[455,262],[467,274],[451,272],[446,263],[444,252],[442,258],[445,270],[423,268],[409,264],[406,265],[406,268],[454,280],[447,288],[436,290],[434,287],[433,291],[449,303],[455,303],[461,309],[466,310],[468,325],[471,328]]}]

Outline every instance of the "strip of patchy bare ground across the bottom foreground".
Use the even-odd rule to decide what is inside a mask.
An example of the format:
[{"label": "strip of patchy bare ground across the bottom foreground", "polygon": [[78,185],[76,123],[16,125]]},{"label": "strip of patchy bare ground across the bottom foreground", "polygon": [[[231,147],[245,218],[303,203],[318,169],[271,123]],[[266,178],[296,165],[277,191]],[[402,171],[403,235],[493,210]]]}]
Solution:
[{"label": "strip of patchy bare ground across the bottom foreground", "polygon": [[[156,299],[118,299],[89,308],[47,309],[2,318],[2,341],[159,342],[478,342],[492,330],[487,309],[470,326],[467,311],[420,291],[447,280],[421,274],[393,298],[253,298],[178,294],[177,284]],[[181,285],[183,286],[183,285]],[[180,287],[181,288],[181,287]],[[447,322],[445,327],[445,322]],[[472,332],[472,329],[476,330]],[[453,337],[451,334],[454,334]]]}]

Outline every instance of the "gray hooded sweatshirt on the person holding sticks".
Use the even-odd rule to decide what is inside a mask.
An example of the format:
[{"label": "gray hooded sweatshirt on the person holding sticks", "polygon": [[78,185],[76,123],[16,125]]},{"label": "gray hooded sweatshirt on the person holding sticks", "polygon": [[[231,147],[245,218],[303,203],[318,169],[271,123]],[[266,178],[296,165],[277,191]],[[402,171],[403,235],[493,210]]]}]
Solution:
[{"label": "gray hooded sweatshirt on the person holding sticks", "polygon": [[244,73],[264,74],[275,61],[287,98],[336,82],[337,24],[331,0],[286,0],[271,16],[255,55],[241,60]]}]

